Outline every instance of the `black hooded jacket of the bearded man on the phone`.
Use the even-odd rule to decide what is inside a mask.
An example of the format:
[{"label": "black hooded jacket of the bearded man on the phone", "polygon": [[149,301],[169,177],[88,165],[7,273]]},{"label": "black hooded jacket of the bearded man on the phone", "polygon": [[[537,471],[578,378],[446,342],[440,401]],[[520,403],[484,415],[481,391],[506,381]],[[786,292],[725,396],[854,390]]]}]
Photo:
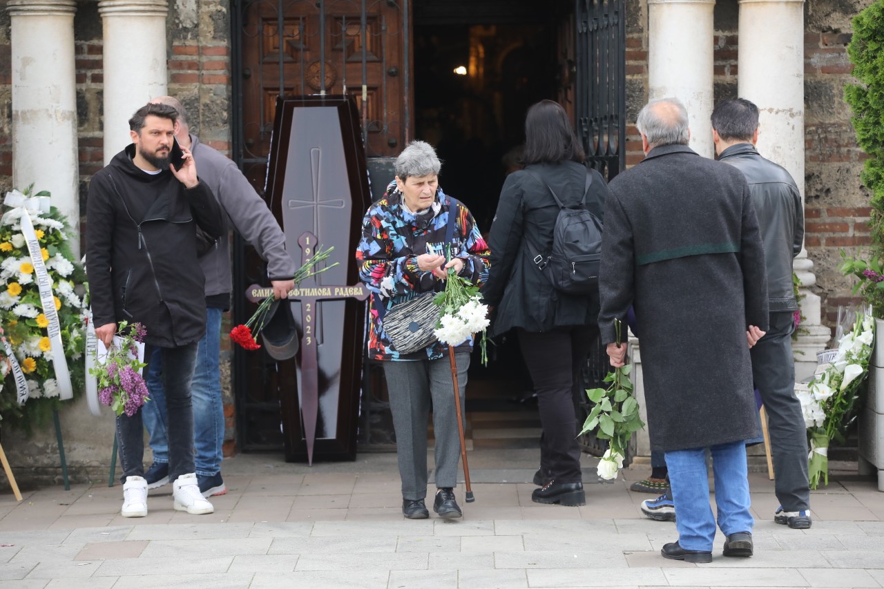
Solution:
[{"label": "black hooded jacket of the bearded man on the phone", "polygon": [[86,265],[95,326],[137,321],[145,341],[175,348],[206,329],[203,276],[196,256],[198,224],[211,237],[225,231],[208,186],[187,188],[168,170],[133,164],[135,146],[119,152],[89,183]]}]

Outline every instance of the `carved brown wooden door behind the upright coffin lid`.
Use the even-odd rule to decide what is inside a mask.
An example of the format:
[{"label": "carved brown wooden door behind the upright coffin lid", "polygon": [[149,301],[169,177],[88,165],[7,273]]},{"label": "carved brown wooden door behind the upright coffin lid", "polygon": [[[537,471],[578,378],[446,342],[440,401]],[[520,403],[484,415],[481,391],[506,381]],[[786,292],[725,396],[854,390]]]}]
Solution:
[{"label": "carved brown wooden door behind the upright coffin lid", "polygon": [[241,147],[263,187],[276,98],[356,98],[367,157],[399,154],[409,136],[410,0],[240,3]]}]

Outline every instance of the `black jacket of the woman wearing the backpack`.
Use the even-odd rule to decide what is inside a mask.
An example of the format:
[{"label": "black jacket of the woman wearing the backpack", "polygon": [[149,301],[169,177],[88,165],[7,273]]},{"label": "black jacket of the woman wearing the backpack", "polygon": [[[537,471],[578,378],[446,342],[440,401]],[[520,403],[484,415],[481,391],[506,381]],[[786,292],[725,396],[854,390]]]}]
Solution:
[{"label": "black jacket of the woman wearing the backpack", "polygon": [[[542,178],[562,204],[572,209],[581,202],[590,174],[586,209],[602,218],[607,186],[595,170],[587,171],[583,164],[570,161],[535,164],[527,169]],[[596,322],[598,297],[560,293],[531,261],[529,241],[537,251],[548,254],[558,216],[559,206],[549,188],[537,178],[523,170],[507,176],[488,237],[491,268],[482,287],[485,302],[495,308],[492,334],[506,333],[514,327],[537,333]]]}]

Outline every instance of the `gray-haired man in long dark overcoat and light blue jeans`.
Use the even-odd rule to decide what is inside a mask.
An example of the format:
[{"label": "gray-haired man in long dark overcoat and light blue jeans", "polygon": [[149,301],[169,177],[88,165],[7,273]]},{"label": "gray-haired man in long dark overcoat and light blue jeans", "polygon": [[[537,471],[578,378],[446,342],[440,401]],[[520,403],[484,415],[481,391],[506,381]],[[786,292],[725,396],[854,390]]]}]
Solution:
[{"label": "gray-haired man in long dark overcoat and light blue jeans", "polygon": [[712,560],[709,448],[724,555],[750,556],[745,440],[758,436],[758,418],[749,348],[767,329],[758,219],[743,174],[688,147],[682,103],[649,103],[636,124],[645,158],[609,185],[598,328],[621,366],[614,323],[630,305],[640,317],[651,447],[666,453],[679,534],[661,554]]}]

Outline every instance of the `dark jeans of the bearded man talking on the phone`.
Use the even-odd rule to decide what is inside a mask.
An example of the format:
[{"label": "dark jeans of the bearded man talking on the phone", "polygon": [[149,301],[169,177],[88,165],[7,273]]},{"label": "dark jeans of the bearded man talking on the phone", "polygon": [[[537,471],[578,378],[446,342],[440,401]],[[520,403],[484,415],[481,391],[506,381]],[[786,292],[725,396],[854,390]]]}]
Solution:
[{"label": "dark jeans of the bearded man talking on the phone", "polygon": [[[194,471],[194,411],[190,404],[190,383],[194,377],[196,362],[196,342],[178,348],[155,348],[146,346],[144,357],[148,366],[145,374],[160,360],[164,365],[163,385],[165,396],[164,413],[168,416],[168,461],[169,480],[174,481],[180,475]],[[142,415],[149,409],[155,409],[157,402],[150,390],[150,401],[132,417],[117,417],[117,444],[119,461],[123,465],[120,481],[126,483],[126,477],[144,476],[144,425]]]}]

